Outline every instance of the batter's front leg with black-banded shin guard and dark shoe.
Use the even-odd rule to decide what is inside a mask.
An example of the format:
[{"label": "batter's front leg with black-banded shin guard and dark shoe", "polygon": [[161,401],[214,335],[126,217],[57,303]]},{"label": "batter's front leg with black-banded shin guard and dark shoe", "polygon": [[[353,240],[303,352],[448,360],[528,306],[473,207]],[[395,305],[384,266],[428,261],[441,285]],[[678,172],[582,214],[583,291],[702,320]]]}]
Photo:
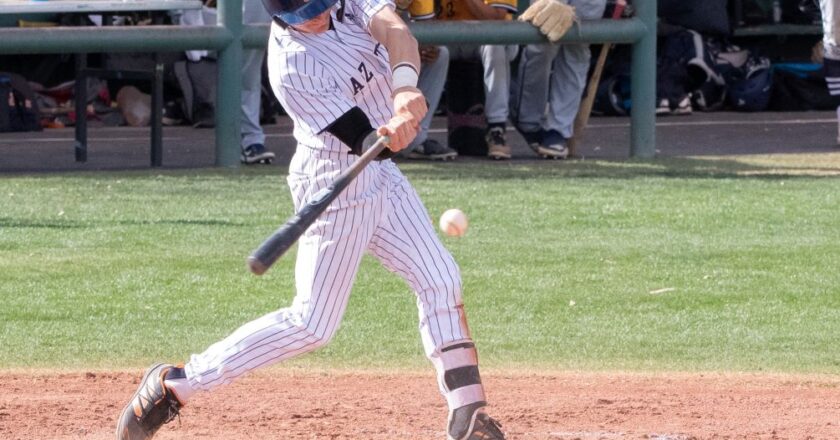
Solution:
[{"label": "batter's front leg with black-banded shin guard and dark shoe", "polygon": [[394,167],[389,210],[369,250],[417,295],[420,335],[449,406],[448,438],[503,439],[484,411],[478,356],[461,297],[461,275],[417,193]]}]

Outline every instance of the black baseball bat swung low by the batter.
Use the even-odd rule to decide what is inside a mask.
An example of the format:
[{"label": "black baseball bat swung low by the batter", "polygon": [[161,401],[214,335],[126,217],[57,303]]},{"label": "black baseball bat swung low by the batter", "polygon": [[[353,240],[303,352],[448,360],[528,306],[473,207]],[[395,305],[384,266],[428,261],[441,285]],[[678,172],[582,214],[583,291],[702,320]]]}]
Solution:
[{"label": "black baseball bat swung low by the batter", "polygon": [[268,268],[277,261],[293,244],[303,235],[309,227],[323,213],[327,206],[347,188],[347,185],[362,172],[389,142],[387,136],[380,137],[359,159],[353,162],[349,168],[344,170],[335,178],[332,185],[322,189],[312,196],[312,200],[301,208],[301,210],[286,220],[286,223],[274,231],[254,252],[248,257],[248,268],[255,275],[262,275]]}]

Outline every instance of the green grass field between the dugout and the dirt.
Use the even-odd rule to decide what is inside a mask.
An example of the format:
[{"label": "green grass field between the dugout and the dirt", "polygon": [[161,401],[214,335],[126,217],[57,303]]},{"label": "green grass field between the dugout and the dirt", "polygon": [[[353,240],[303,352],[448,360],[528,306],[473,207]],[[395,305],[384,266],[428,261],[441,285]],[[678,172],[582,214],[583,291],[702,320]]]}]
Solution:
[{"label": "green grass field between the dugout and the dirt", "polygon": [[[444,242],[486,367],[836,374],[835,156],[401,168],[435,221],[470,217]],[[287,305],[294,258],[244,264],[291,214],[283,172],[0,177],[0,368],[182,361]],[[416,319],[366,257],[333,343],[291,365],[426,368]]]}]

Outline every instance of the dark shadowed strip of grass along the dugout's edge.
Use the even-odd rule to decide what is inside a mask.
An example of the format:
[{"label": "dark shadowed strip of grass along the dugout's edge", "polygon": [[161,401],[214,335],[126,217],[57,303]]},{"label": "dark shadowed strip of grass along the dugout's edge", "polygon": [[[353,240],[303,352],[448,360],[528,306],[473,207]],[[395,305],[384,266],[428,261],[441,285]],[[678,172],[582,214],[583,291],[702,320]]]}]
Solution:
[{"label": "dark shadowed strip of grass along the dugout's edge", "polygon": [[[406,175],[421,179],[528,179],[530,177],[635,179],[647,177],[693,179],[790,179],[840,177],[840,151],[795,154],[659,157],[655,159],[572,159],[547,161],[514,159],[490,161],[459,157],[454,162],[417,162],[399,159]],[[285,167],[146,169],[125,171],[68,171],[14,175],[9,179],[74,178],[149,180],[150,178],[240,179],[255,184],[284,186]]]}]

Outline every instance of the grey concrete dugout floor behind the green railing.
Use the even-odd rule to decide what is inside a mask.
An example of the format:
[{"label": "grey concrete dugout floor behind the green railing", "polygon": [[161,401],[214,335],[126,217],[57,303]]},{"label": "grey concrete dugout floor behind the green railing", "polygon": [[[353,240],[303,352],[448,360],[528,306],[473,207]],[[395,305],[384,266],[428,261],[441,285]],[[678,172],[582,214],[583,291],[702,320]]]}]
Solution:
[{"label": "grey concrete dugout floor behind the green railing", "polygon": [[[266,146],[278,156],[274,162],[285,172],[294,152],[291,122],[278,118],[264,126]],[[148,127],[96,127],[88,129],[88,161],[78,163],[73,155],[73,128],[38,133],[0,133],[0,172],[31,173],[79,170],[149,168]],[[431,136],[446,141],[446,118],[438,117]],[[630,149],[630,119],[593,117],[578,148],[577,160],[626,159]],[[725,156],[742,154],[792,154],[838,152],[837,116],[834,112],[795,113],[694,113],[657,119],[658,156]],[[522,137],[508,128],[514,161],[537,160]],[[214,166],[213,129],[164,127],[163,168]],[[401,159],[405,160],[405,159]],[[459,161],[487,160],[459,157]],[[264,165],[262,165],[264,166]],[[557,166],[563,166],[557,162]]]}]

